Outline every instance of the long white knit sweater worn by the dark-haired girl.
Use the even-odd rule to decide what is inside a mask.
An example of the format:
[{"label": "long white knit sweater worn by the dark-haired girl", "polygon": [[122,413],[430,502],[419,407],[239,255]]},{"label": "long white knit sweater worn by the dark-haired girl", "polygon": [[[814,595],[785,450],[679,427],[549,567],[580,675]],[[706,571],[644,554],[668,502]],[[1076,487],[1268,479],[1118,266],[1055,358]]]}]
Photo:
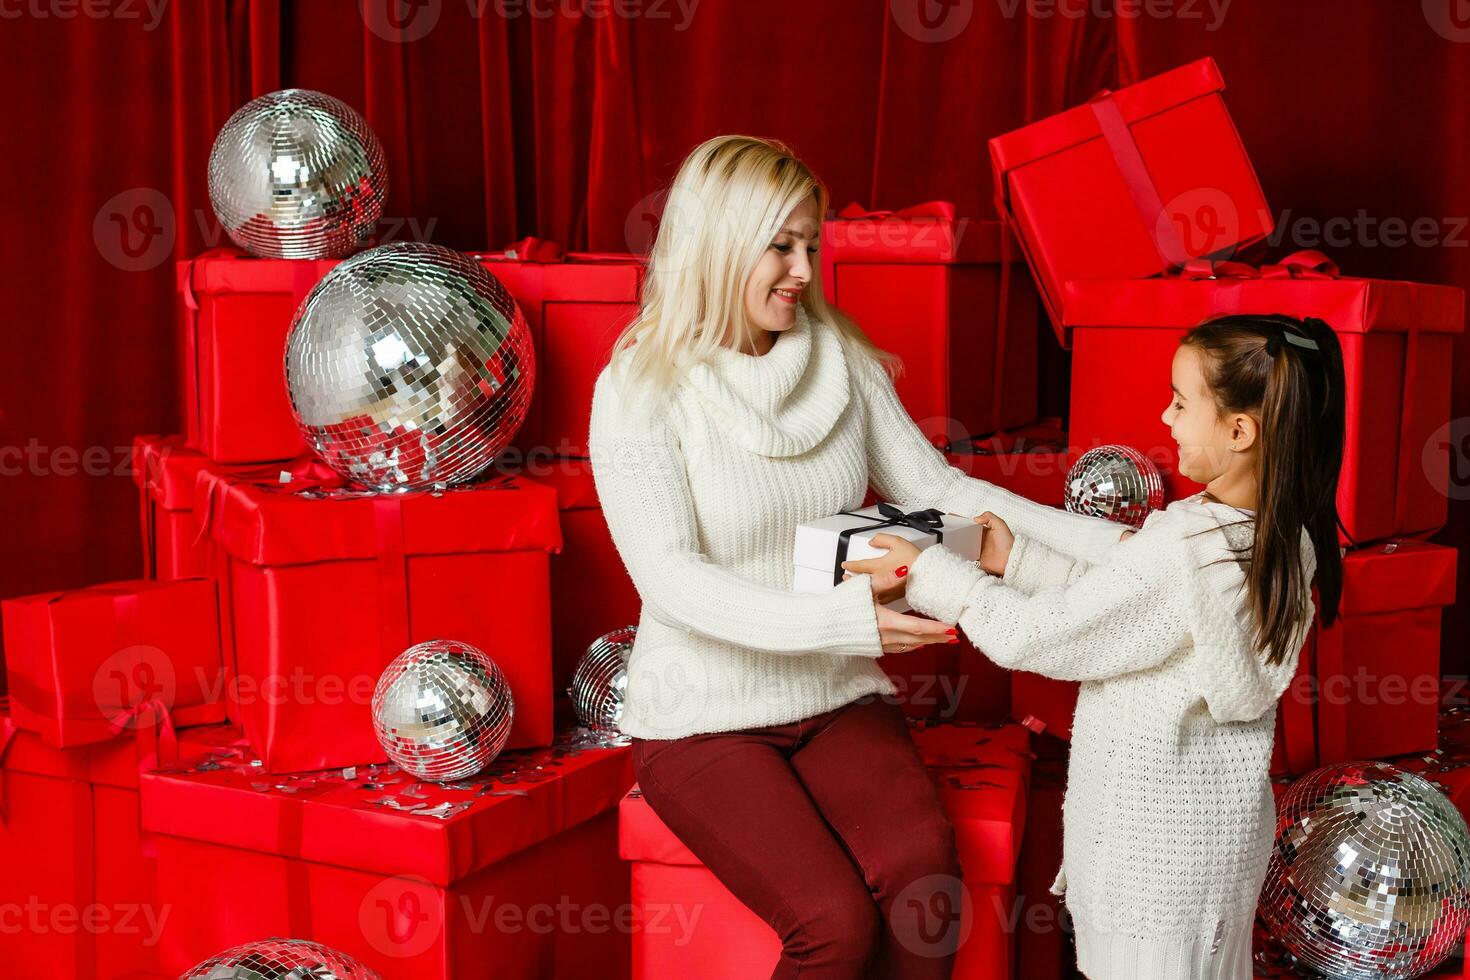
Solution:
[{"label": "long white knit sweater worn by the dark-haired girl", "polygon": [[[1197,495],[1095,563],[1017,532],[1004,579],[942,545],[908,570],[910,605],[958,621],[995,663],[1082,682],[1053,892],[1092,980],[1252,976],[1276,702],[1313,617],[1307,599],[1280,664],[1255,649],[1232,552],[1252,530],[1244,511]],[[1301,561],[1310,580],[1305,533]]]}]

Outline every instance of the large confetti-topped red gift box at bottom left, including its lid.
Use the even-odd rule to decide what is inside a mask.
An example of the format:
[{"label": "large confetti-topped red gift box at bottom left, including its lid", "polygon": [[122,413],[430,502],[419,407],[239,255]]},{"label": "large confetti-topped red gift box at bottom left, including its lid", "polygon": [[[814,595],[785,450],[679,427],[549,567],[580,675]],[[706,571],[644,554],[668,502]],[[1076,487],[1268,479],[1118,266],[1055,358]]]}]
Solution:
[{"label": "large confetti-topped red gift box at bottom left, including its lid", "polygon": [[175,974],[272,934],[385,980],[626,970],[632,909],[606,846],[632,783],[626,746],[563,735],[450,785],[388,765],[263,777],[251,761],[216,751],[143,776]]}]

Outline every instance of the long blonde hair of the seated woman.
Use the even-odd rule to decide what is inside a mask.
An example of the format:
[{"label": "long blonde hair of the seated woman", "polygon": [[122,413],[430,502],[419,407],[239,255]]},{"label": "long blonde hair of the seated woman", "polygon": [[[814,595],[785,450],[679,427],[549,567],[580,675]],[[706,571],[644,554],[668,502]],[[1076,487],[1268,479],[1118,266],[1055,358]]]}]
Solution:
[{"label": "long blonde hair of the seated woman", "polygon": [[[725,344],[731,326],[735,336],[750,336],[745,282],[782,222],[807,198],[816,201],[819,219],[826,215],[826,188],[784,143],[728,135],[695,147],[669,187],[638,316],[609,356],[617,364],[628,354],[614,381],[660,401]],[[811,266],[801,306],[836,326],[847,350],[885,366],[897,361],[826,303],[820,262]]]}]

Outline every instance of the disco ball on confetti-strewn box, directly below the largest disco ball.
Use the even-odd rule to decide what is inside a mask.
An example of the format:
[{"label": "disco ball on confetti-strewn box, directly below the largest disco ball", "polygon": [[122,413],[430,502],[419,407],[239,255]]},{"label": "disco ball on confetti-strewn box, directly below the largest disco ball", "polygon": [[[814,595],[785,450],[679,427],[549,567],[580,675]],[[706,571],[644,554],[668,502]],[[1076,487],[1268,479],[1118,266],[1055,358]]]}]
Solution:
[{"label": "disco ball on confetti-strewn box, directly below the largest disco ball", "polygon": [[398,768],[435,782],[481,771],[506,748],[516,705],[500,664],[431,639],[398,654],[372,693],[372,723]]}]

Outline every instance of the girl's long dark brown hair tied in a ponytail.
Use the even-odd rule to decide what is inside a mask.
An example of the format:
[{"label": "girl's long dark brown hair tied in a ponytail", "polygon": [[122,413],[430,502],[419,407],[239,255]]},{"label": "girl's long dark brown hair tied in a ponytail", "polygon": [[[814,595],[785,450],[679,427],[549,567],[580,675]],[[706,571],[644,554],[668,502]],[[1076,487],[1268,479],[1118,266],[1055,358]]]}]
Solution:
[{"label": "girl's long dark brown hair tied in a ponytail", "polygon": [[[1255,536],[1241,557],[1257,646],[1270,663],[1289,654],[1301,610],[1317,586],[1322,621],[1342,598],[1338,473],[1345,429],[1342,345],[1314,317],[1239,314],[1201,323],[1182,344],[1202,350],[1205,381],[1222,411],[1260,419]],[[1301,564],[1305,529],[1314,582]]]}]

